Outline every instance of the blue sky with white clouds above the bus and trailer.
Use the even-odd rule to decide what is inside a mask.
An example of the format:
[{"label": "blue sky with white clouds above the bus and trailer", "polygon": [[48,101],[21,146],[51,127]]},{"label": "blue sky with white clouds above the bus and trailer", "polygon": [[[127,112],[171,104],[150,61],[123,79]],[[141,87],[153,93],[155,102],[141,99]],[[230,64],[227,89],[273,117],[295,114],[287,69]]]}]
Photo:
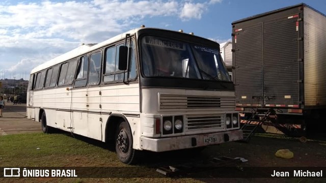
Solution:
[{"label": "blue sky with white clouds above the bus and trailer", "polygon": [[29,79],[31,70],[83,43],[99,43],[145,25],[223,43],[233,21],[324,0],[75,0],[0,2],[0,79]]}]

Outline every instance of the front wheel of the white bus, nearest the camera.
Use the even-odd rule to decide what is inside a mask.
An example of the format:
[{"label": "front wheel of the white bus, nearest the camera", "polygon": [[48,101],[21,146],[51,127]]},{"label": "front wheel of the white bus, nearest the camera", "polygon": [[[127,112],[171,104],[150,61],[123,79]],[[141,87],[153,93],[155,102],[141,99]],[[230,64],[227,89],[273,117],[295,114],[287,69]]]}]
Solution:
[{"label": "front wheel of the white bus, nearest the camera", "polygon": [[117,128],[115,144],[118,159],[125,164],[134,164],[136,161],[132,142],[129,124],[126,121],[121,121]]}]

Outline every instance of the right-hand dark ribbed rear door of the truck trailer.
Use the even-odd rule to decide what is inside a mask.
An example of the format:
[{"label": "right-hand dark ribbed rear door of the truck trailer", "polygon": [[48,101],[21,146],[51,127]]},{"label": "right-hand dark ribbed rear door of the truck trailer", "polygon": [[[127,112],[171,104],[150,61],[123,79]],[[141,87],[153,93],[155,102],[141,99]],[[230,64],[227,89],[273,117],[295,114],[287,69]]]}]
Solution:
[{"label": "right-hand dark ribbed rear door of the truck trailer", "polygon": [[293,16],[264,22],[264,105],[299,101],[298,24]]}]

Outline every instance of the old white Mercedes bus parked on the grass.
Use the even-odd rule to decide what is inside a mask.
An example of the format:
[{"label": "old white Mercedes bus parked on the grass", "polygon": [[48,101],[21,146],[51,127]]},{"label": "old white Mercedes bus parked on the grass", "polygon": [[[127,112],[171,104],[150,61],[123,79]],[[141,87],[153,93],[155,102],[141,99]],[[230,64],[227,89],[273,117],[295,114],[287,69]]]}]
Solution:
[{"label": "old white Mercedes bus parked on the grass", "polygon": [[114,141],[126,164],[141,150],[242,139],[219,44],[143,26],[34,68],[27,116],[44,133],[56,128]]}]

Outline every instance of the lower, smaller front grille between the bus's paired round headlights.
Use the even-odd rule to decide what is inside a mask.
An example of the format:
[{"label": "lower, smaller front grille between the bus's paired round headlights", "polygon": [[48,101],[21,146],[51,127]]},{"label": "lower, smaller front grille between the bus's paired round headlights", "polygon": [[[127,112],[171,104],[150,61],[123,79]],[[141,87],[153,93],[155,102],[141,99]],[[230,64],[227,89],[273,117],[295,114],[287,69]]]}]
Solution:
[{"label": "lower, smaller front grille between the bus's paired round headlights", "polygon": [[224,129],[224,115],[186,115],[186,130]]}]

